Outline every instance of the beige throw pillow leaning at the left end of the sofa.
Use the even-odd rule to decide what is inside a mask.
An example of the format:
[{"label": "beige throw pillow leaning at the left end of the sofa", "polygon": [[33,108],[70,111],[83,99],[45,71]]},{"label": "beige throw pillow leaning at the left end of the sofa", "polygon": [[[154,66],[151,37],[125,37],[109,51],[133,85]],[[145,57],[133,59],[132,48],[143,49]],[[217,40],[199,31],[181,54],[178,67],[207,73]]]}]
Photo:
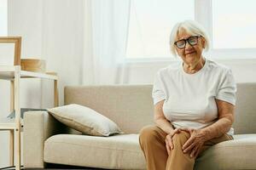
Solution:
[{"label": "beige throw pillow leaning at the left end of the sofa", "polygon": [[122,133],[120,128],[106,116],[83,105],[64,105],[48,109],[58,121],[82,133],[94,136],[109,136]]}]

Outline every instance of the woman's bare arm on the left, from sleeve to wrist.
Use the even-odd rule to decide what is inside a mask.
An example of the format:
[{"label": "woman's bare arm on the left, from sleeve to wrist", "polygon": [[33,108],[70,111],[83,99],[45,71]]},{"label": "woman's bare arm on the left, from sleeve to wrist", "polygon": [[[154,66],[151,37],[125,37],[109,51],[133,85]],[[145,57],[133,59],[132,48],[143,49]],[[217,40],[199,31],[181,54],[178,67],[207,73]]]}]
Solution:
[{"label": "woman's bare arm on the left, from sleeve to wrist", "polygon": [[161,100],[157,104],[154,105],[154,123],[157,127],[160,127],[167,134],[172,133],[173,127],[172,123],[166,119],[166,116],[163,112],[163,105],[165,100]]}]

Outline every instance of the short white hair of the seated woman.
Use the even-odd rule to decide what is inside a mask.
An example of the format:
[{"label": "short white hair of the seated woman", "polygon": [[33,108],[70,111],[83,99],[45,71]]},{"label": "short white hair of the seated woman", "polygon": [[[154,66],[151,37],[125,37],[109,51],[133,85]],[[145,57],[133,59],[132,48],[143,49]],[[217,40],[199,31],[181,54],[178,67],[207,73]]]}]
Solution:
[{"label": "short white hair of the seated woman", "polygon": [[181,29],[184,29],[191,35],[196,35],[196,36],[202,36],[206,40],[205,44],[205,49],[208,50],[210,47],[210,39],[207,34],[207,31],[203,26],[201,26],[198,22],[195,20],[184,20],[183,22],[178,22],[173,28],[172,32],[170,35],[170,48],[171,48],[171,53],[176,56],[176,48],[174,42],[177,40],[177,35],[178,31]]}]

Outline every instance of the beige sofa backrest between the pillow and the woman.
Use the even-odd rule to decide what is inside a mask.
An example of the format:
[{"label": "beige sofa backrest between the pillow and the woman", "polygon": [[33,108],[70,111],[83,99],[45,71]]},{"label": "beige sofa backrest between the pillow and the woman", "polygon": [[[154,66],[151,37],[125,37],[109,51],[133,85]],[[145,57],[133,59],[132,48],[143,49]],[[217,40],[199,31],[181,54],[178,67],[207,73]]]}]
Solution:
[{"label": "beige sofa backrest between the pillow and the woman", "polygon": [[99,85],[65,87],[65,105],[90,107],[116,122],[125,133],[139,133],[154,124],[152,85]]}]

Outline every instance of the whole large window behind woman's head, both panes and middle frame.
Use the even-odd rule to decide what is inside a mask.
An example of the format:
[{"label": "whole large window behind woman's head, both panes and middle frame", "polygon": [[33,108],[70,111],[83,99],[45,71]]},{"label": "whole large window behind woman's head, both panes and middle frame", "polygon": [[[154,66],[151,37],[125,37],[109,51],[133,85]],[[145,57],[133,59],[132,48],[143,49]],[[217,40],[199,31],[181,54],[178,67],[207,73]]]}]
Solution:
[{"label": "whole large window behind woman's head, both panes and middle frame", "polygon": [[215,59],[256,58],[255,0],[131,0],[126,59],[171,59],[169,36],[181,20],[197,20]]}]

